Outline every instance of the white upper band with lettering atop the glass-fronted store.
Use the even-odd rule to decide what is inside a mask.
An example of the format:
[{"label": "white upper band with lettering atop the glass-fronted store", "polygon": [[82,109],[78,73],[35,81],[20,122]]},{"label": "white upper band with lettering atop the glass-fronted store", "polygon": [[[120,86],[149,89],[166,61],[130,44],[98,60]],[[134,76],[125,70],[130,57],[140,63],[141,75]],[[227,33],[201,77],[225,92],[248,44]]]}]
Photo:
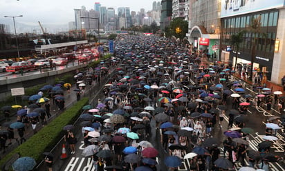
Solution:
[{"label": "white upper band with lettering atop the glass-fronted store", "polygon": [[221,18],[272,8],[282,8],[285,0],[221,0]]}]

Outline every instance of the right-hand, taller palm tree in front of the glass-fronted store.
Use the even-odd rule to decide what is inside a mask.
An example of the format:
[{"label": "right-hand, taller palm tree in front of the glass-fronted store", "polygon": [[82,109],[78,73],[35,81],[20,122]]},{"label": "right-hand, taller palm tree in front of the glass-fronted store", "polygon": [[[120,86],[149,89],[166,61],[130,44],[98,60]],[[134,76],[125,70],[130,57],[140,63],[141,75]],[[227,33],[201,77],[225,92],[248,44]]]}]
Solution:
[{"label": "right-hand, taller palm tree in front of the glass-fronted store", "polygon": [[261,34],[261,15],[259,15],[259,17],[252,17],[250,24],[247,26],[247,31],[251,33],[251,44],[252,44],[252,48],[251,48],[251,68],[250,68],[250,80],[252,80],[252,76],[253,76],[253,63],[255,62],[255,48],[256,48],[256,44],[257,44],[257,39],[259,38],[259,34]]}]

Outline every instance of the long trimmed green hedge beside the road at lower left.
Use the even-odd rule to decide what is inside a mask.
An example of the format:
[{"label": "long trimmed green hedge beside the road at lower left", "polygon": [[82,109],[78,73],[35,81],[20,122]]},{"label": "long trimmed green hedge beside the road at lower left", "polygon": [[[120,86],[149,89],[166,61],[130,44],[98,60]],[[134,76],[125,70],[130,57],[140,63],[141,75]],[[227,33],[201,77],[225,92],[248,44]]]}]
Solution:
[{"label": "long trimmed green hedge beside the road at lower left", "polygon": [[33,157],[37,162],[42,161],[42,153],[50,151],[64,136],[62,128],[65,125],[74,123],[81,114],[82,107],[88,102],[88,98],[83,98],[75,103],[75,105],[39,130],[37,134],[30,137],[25,143],[19,145],[19,147],[7,154],[6,157],[1,159],[0,165],[4,165],[15,154],[20,154],[21,157]]}]

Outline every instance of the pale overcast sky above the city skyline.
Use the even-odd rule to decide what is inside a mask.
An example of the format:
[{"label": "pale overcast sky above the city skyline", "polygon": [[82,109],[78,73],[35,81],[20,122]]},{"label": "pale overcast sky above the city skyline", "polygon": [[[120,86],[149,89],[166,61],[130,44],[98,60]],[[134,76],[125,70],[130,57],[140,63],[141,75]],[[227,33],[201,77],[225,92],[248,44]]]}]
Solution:
[{"label": "pale overcast sky above the city skyline", "polygon": [[[75,21],[75,8],[86,7],[86,10],[94,9],[95,2],[100,2],[101,6],[115,8],[129,7],[131,11],[138,12],[140,8],[146,11],[151,10],[155,0],[0,0],[0,23],[11,23],[12,19],[3,16],[18,16],[16,22],[28,25],[38,25],[40,21],[45,24],[67,24]],[[10,21],[9,21],[10,20]]]}]

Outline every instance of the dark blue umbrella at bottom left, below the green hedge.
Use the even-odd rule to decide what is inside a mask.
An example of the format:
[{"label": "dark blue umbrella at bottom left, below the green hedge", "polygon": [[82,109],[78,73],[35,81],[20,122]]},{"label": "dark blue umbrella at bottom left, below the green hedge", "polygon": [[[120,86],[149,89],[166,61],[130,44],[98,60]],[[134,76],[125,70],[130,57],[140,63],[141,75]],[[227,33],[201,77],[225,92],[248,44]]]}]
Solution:
[{"label": "dark blue umbrella at bottom left, below the green hedge", "polygon": [[37,162],[32,157],[20,157],[12,163],[12,168],[15,171],[27,171],[33,170],[35,165],[37,165]]}]

